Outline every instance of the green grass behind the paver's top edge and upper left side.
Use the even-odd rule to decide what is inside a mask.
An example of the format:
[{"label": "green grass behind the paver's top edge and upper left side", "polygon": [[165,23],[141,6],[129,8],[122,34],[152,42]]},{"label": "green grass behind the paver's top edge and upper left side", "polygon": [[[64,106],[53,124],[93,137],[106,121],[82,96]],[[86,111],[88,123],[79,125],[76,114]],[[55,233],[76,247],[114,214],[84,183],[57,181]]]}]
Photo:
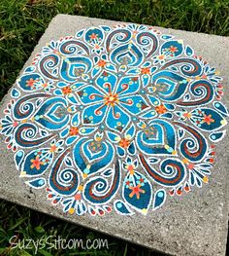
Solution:
[{"label": "green grass behind the paver's top edge and upper left side", "polygon": [[0,98],[59,13],[229,35],[228,0],[0,0]]}]

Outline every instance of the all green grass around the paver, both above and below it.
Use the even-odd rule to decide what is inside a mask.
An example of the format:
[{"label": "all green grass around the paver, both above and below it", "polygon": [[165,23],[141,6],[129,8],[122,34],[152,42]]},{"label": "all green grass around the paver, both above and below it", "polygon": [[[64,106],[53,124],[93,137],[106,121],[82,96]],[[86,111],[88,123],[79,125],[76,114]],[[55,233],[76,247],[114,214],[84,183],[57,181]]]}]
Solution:
[{"label": "all green grass around the paver, both above and below it", "polygon": [[[213,0],[0,0],[0,98],[16,80],[56,14],[109,18],[229,35],[229,1]],[[108,238],[50,218],[12,203],[0,201],[0,255],[33,255],[34,249],[11,250],[9,238]],[[158,255],[136,245],[108,238],[110,249],[55,251],[38,255]]]}]

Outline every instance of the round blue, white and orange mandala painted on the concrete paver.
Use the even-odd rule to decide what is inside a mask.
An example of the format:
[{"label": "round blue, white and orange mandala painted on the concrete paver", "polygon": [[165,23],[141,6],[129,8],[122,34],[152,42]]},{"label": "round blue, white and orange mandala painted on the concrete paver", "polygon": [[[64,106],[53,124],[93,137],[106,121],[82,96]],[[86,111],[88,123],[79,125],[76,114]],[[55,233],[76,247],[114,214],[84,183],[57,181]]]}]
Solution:
[{"label": "round blue, white and orange mandala painted on the concrete paver", "polygon": [[147,214],[208,183],[228,116],[220,82],[152,27],[91,27],[36,55],[0,132],[20,178],[64,212]]}]

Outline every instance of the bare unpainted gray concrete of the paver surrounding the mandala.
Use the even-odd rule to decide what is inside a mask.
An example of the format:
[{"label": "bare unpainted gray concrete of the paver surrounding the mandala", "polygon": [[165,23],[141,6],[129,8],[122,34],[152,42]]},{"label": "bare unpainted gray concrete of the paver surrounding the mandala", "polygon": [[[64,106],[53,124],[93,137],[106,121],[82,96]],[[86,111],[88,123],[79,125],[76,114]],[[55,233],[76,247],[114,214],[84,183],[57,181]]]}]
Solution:
[{"label": "bare unpainted gray concrete of the paver surrounding the mandala", "polygon": [[[88,26],[115,25],[116,21],[58,15],[51,20],[37,47],[24,65],[27,67],[34,56],[50,40],[58,40]],[[123,22],[120,22],[123,23]],[[162,33],[183,39],[195,54],[202,55],[220,70],[224,79],[224,102],[229,101],[228,69],[229,39],[214,35],[158,28]],[[24,68],[22,70],[24,70]],[[10,100],[10,93],[2,101],[2,109]],[[0,137],[0,198],[36,209],[49,215],[70,221],[105,234],[147,246],[171,255],[225,255],[228,220],[228,148],[226,136],[216,143],[216,158],[209,184],[203,188],[192,188],[192,192],[181,197],[167,197],[165,204],[144,216],[137,213],[121,216],[113,211],[104,216],[92,217],[63,213],[61,207],[51,206],[45,189],[35,190],[26,186],[14,163],[14,154],[7,150],[5,137]]]}]

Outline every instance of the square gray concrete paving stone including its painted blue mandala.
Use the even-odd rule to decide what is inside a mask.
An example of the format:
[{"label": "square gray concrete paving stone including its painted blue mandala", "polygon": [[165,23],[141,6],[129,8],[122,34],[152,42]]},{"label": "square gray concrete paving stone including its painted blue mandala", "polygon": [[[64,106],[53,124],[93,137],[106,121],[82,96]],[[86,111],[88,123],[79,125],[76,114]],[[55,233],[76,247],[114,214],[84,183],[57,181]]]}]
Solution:
[{"label": "square gray concrete paving stone including its painted blue mandala", "polygon": [[0,197],[164,253],[225,255],[228,49],[56,16],[1,103]]}]

